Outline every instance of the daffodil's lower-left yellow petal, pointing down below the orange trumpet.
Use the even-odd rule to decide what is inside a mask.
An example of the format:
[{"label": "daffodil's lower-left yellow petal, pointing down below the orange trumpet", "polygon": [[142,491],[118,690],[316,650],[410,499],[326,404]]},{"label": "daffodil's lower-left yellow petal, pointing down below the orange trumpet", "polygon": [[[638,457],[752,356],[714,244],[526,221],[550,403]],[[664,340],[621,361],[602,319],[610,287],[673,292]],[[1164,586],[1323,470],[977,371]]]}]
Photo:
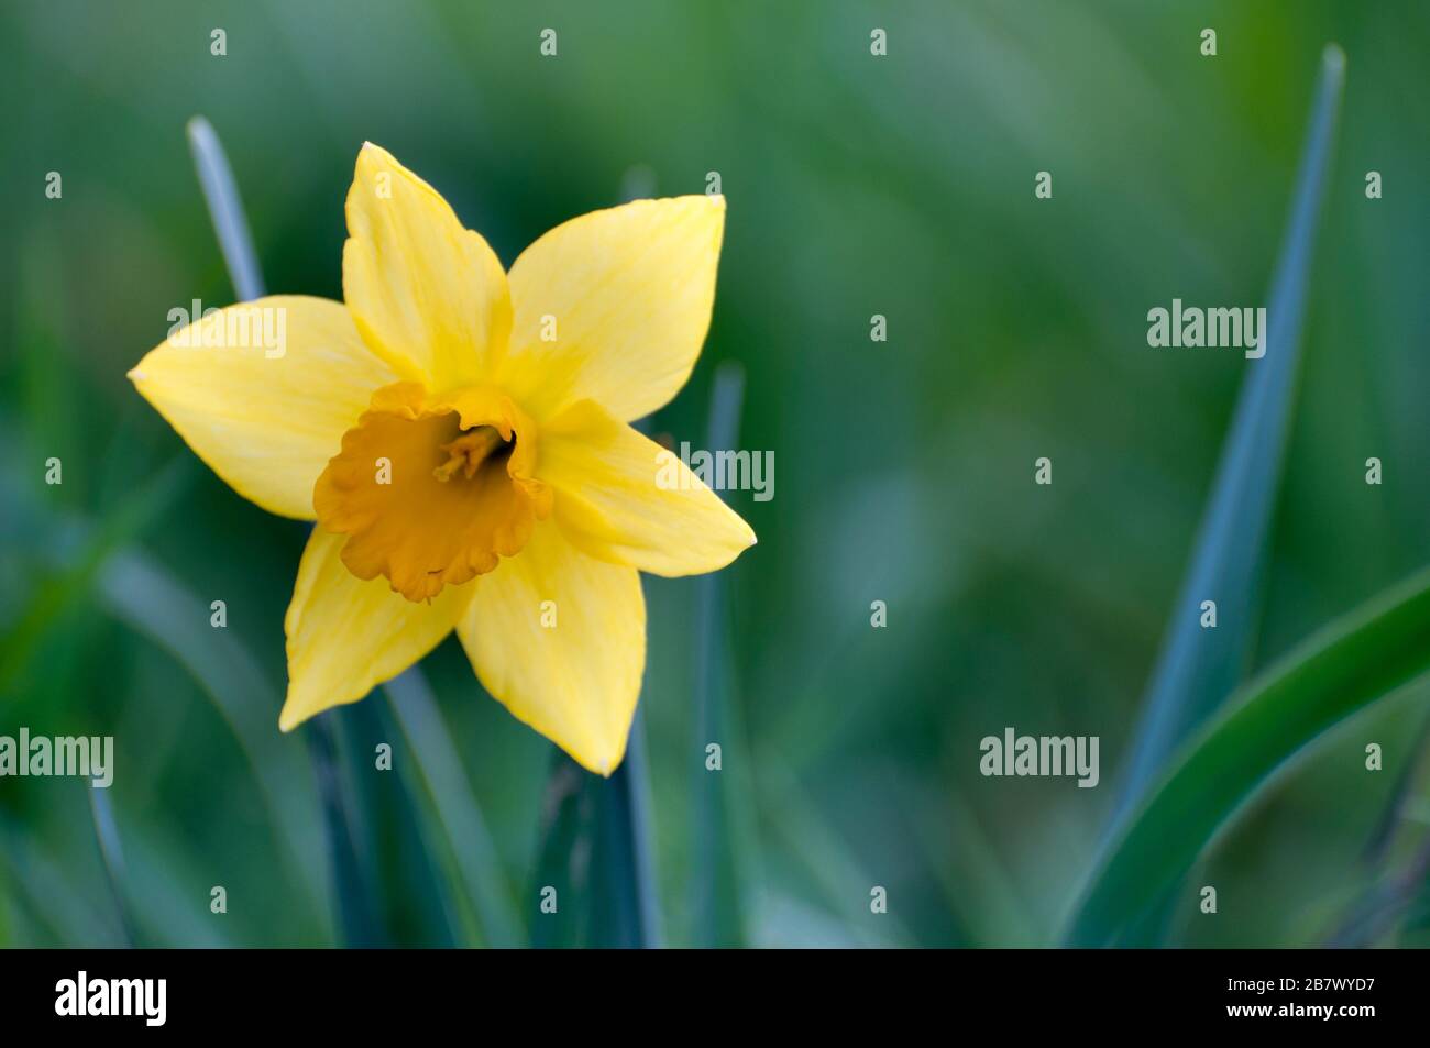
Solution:
[{"label": "daffodil's lower-left yellow petal, pointing down below the orange trumpet", "polygon": [[430,603],[393,593],[386,579],[363,582],[343,566],[342,535],[315,528],[287,606],[287,701],[279,728],[358,702],[440,643],[472,598],[448,586]]}]

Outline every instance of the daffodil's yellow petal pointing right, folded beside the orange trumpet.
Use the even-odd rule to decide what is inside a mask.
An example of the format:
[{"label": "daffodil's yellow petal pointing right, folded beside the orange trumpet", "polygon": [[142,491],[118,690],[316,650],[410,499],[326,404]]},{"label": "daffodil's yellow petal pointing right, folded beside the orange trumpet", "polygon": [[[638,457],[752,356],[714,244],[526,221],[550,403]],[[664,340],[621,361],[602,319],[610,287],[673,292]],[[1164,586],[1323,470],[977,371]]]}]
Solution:
[{"label": "daffodil's yellow petal pointing right, folded beside the orange trumpet", "polygon": [[749,525],[679,456],[591,400],[542,430],[536,476],[553,490],[562,530],[603,560],[698,575],[755,545]]}]

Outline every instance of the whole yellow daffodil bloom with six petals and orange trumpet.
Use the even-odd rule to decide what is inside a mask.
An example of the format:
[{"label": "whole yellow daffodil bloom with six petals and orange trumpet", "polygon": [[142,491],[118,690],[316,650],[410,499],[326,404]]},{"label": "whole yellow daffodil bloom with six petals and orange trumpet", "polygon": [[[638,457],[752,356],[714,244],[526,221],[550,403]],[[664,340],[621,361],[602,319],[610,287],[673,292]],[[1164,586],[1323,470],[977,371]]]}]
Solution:
[{"label": "whole yellow daffodil bloom with six petals and orange trumpet", "polygon": [[716,570],[755,542],[628,425],[695,366],[724,222],[718,196],[636,200],[503,272],[369,143],[346,303],[212,310],[130,372],[235,490],[317,522],[283,623],[283,731],[455,629],[515,716],[595,772],[621,763],[645,668],[638,572]]}]

